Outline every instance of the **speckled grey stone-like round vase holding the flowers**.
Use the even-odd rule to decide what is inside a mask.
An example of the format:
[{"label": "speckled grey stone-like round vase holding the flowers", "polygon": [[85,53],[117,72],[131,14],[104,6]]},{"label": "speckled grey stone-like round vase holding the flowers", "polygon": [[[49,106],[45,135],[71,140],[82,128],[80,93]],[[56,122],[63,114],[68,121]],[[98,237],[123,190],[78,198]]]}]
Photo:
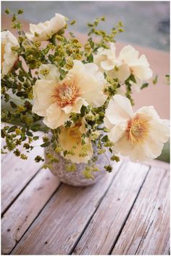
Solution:
[{"label": "speckled grey stone-like round vase holding the flowers", "polygon": [[99,168],[99,171],[93,172],[94,178],[86,179],[86,177],[84,177],[83,175],[83,169],[85,169],[87,164],[75,164],[76,170],[74,172],[68,172],[65,167],[68,163],[72,164],[71,161],[69,162],[67,159],[64,159],[64,157],[60,154],[55,153],[52,148],[48,148],[45,149],[45,161],[47,163],[48,159],[46,159],[46,151],[49,151],[49,153],[59,159],[58,163],[52,164],[50,170],[54,175],[57,175],[57,177],[59,177],[59,180],[62,181],[62,183],[83,187],[96,183],[98,180],[101,179],[101,177],[104,177],[107,174],[107,172],[104,170],[104,165],[107,165],[109,163],[104,154],[100,155],[98,161],[96,161],[96,167]]}]

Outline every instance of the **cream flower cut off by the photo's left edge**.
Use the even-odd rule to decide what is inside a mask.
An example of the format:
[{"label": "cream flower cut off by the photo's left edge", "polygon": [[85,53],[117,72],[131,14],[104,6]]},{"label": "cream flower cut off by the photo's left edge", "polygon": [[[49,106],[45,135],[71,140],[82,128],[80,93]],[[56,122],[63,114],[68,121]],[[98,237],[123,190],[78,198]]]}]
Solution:
[{"label": "cream flower cut off by the photo's left edge", "polygon": [[18,55],[12,51],[12,47],[20,47],[17,38],[10,31],[1,32],[1,69],[2,76],[11,71]]}]

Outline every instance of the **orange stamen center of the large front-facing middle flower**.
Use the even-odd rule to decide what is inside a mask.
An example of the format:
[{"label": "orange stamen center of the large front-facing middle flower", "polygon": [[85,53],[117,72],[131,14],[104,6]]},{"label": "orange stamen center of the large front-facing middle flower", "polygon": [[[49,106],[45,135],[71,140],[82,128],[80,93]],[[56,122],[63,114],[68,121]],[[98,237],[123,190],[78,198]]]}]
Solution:
[{"label": "orange stamen center of the large front-facing middle flower", "polygon": [[57,103],[61,108],[73,104],[76,97],[78,97],[78,87],[76,87],[75,82],[58,84],[52,94],[54,103]]}]

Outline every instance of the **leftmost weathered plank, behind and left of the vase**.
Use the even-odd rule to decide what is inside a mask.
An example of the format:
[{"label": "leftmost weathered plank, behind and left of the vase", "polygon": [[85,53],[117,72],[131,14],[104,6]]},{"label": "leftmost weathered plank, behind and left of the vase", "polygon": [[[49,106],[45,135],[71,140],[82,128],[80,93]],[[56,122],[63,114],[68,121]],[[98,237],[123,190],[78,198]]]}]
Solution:
[{"label": "leftmost weathered plank, behind and left of the vase", "polygon": [[9,155],[1,164],[1,212],[4,212],[16,196],[22,191],[29,180],[42,167],[42,162],[36,163],[35,156],[42,155],[43,148],[34,148],[28,160]]}]

